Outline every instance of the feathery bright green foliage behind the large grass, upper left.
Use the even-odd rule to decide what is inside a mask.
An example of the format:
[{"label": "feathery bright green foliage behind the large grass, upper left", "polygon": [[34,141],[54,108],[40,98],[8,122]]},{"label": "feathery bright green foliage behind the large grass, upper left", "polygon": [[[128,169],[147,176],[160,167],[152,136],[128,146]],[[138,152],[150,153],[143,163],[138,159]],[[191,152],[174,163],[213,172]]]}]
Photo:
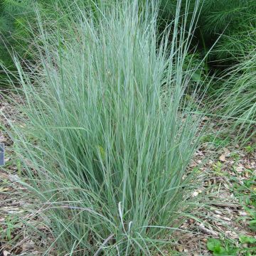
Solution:
[{"label": "feathery bright green foliage behind the large grass, upper left", "polygon": [[[71,10],[77,4],[88,6],[92,2],[94,1],[80,0],[75,3],[73,0],[0,0],[0,88],[6,88],[9,84],[6,71],[9,70],[14,75],[16,70],[12,58],[14,52],[23,59],[23,67],[28,65],[28,61],[33,61],[34,46],[37,44],[33,37],[37,23],[35,10],[48,20],[50,26],[56,21],[63,5],[67,4],[65,8]],[[14,76],[12,79],[14,82]]]}]

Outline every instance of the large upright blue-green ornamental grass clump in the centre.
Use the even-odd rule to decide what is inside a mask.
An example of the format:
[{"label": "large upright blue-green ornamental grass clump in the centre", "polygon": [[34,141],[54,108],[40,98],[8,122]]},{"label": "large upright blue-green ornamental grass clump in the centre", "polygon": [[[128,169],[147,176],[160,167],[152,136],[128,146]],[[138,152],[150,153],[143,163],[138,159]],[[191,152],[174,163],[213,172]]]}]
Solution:
[{"label": "large upright blue-green ornamental grass clump in the centre", "polygon": [[185,31],[178,3],[159,35],[153,2],[78,8],[48,28],[38,18],[36,68],[16,59],[26,118],[11,137],[58,255],[154,254],[195,206],[193,22]]}]

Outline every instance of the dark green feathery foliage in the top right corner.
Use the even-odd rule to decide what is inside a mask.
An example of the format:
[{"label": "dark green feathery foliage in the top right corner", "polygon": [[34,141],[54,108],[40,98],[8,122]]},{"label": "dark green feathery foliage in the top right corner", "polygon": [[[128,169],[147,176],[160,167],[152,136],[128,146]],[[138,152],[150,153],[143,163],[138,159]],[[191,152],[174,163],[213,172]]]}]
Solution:
[{"label": "dark green feathery foliage in the top right corner", "polygon": [[[170,18],[175,13],[176,1],[162,0],[163,17]],[[183,11],[191,14],[196,0],[190,4],[181,1]],[[218,41],[214,52],[215,60],[230,58],[238,60],[250,53],[255,46],[256,4],[253,0],[201,0],[201,14],[198,19],[196,43],[209,50]],[[220,37],[220,35],[223,35]],[[219,38],[220,37],[220,38]],[[254,43],[254,44],[253,44]]]}]

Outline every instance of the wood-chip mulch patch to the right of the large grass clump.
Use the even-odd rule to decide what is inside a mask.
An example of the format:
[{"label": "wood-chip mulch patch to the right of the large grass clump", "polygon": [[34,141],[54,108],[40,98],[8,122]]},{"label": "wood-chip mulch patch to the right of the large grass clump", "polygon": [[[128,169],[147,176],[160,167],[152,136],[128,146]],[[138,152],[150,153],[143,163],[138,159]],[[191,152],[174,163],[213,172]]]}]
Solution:
[{"label": "wood-chip mulch patch to the right of the large grass clump", "polygon": [[[229,247],[240,248],[234,255],[245,255],[243,248],[252,245],[241,244],[239,238],[242,235],[256,238],[256,233],[249,227],[252,218],[243,206],[252,211],[255,208],[245,203],[249,195],[244,190],[239,193],[238,188],[244,188],[246,181],[254,181],[250,190],[254,190],[256,195],[256,152],[248,153],[239,146],[216,149],[205,145],[196,152],[191,167],[204,175],[201,188],[193,196],[204,198],[204,194],[210,193],[211,197],[208,202],[202,201],[208,207],[201,208],[200,221],[191,218],[181,226],[193,233],[181,234],[176,249],[184,255],[212,255],[207,242],[216,238],[223,240],[224,246],[228,241]],[[256,250],[250,253],[256,255]]]}]

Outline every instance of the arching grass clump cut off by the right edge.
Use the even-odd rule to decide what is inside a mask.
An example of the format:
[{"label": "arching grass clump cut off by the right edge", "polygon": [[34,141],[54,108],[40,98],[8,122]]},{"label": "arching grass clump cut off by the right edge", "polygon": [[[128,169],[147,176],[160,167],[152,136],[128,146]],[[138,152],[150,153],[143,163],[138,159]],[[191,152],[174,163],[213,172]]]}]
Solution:
[{"label": "arching grass clump cut off by the right edge", "polygon": [[255,137],[256,127],[256,51],[240,59],[222,78],[217,91],[218,114],[236,134],[236,142],[245,144]]}]

